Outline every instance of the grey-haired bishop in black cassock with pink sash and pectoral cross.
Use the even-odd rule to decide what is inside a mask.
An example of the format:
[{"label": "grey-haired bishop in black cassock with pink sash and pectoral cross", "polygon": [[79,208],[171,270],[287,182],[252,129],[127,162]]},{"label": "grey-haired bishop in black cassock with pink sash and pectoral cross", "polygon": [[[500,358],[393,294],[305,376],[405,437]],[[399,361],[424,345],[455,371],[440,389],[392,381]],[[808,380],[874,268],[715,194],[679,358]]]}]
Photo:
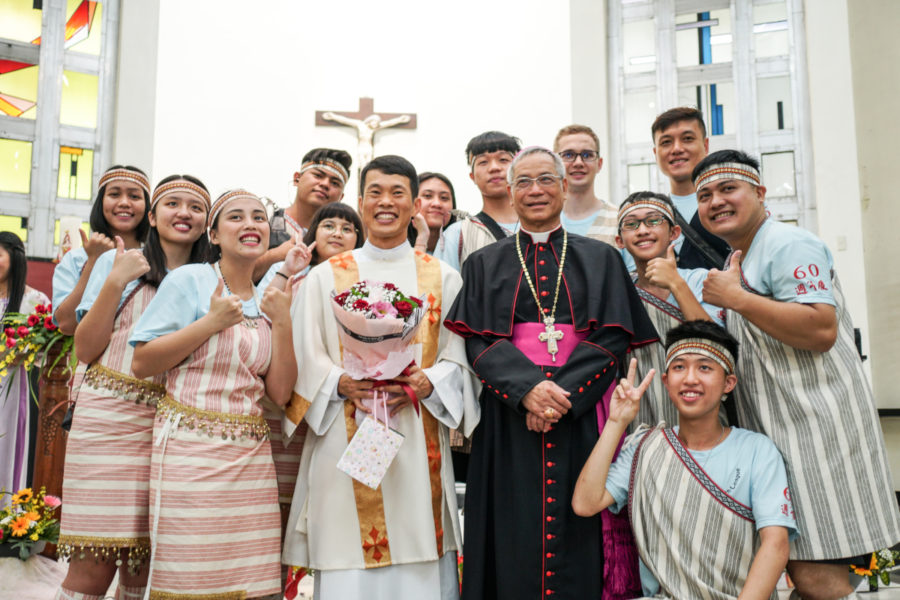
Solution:
[{"label": "grey-haired bishop in black cassock with pink sash and pectoral cross", "polygon": [[[656,334],[617,251],[560,225],[565,174],[547,148],[513,159],[519,231],[463,264],[444,322],[465,338],[482,382],[466,486],[466,600],[600,598],[604,586],[601,518],[576,517],[572,490],[598,439],[598,403],[626,352]],[[640,582],[622,587],[639,592]]]}]

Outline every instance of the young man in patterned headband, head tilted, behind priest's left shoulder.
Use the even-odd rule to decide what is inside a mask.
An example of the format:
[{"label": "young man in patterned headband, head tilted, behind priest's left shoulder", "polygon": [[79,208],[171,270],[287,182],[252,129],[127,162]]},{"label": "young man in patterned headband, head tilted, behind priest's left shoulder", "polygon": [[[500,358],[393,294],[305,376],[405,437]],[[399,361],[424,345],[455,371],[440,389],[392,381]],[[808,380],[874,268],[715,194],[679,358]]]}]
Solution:
[{"label": "young man in patterned headband, head tilted, behind priest's left shoulder", "polygon": [[[344,197],[344,186],[350,178],[353,159],[343,150],[313,148],[303,157],[300,170],[294,173],[294,203],[279,208],[269,223],[269,250],[256,261],[255,280],[265,275],[273,264],[282,261],[294,243],[303,239],[313,215],[319,208]],[[365,166],[365,165],[363,165]]]}]

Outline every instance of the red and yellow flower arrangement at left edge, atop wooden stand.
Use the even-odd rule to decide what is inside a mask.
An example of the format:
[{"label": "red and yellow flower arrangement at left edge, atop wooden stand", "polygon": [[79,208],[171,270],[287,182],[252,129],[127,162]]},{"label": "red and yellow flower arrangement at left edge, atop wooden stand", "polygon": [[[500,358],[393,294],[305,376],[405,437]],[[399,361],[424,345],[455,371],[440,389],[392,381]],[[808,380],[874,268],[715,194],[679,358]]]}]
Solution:
[{"label": "red and yellow flower arrangement at left edge, atop wooden stand", "polygon": [[[52,369],[72,349],[74,339],[65,335],[53,324],[50,304],[38,304],[31,314],[7,313],[3,318],[4,353],[0,358],[0,379],[6,377],[10,366],[21,364],[30,370],[35,362],[38,367]],[[59,344],[59,353],[47,364],[48,352]],[[66,368],[71,366],[66,363]]]}]

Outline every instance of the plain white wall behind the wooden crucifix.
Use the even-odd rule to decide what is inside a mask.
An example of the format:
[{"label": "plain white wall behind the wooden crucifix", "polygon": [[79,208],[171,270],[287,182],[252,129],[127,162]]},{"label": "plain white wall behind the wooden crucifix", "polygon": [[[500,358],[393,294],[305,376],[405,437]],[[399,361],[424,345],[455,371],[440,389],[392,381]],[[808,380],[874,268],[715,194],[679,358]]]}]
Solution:
[{"label": "plain white wall behind the wooden crucifix", "polygon": [[[153,136],[132,141],[152,148],[154,181],[186,172],[214,195],[242,186],[286,205],[307,150],[356,156],[355,132],[315,127],[315,111],[355,111],[370,96],[376,111],[418,115],[416,130],[376,134],[376,155],[446,173],[460,205],[477,210],[464,154],[472,136],[499,129],[550,145],[572,119],[568,3],[159,6]],[[128,36],[122,44],[124,60]],[[351,180],[345,200],[354,204],[355,189]]]}]

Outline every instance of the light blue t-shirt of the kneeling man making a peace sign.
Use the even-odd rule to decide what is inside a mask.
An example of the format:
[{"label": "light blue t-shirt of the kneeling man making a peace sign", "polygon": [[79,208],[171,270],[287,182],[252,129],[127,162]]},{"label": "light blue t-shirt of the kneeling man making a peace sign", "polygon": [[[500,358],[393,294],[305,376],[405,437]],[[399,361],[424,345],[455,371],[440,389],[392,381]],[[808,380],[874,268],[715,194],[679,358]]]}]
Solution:
[{"label": "light blue t-shirt of the kneeling man making a peace sign", "polygon": [[[648,431],[644,429],[629,436],[609,468],[606,490],[615,499],[615,504],[609,507],[611,512],[618,513],[628,503],[631,464],[640,438]],[[678,432],[677,426],[675,431]],[[750,507],[757,531],[763,527],[779,526],[787,528],[788,539],[797,537],[784,459],[772,440],[761,433],[732,427],[731,433],[718,446],[690,452],[725,493]],[[659,582],[643,561],[640,570],[644,594],[656,594]]]}]

